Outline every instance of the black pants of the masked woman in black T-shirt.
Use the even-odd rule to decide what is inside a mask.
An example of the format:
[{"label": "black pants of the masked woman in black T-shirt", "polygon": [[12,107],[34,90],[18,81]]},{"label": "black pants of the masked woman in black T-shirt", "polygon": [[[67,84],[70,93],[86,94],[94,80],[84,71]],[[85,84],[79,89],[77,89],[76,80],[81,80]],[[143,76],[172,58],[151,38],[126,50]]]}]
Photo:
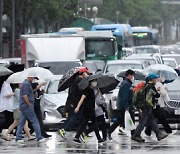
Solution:
[{"label": "black pants of the masked woman in black T-shirt", "polygon": [[82,123],[80,124],[80,127],[78,128],[75,138],[79,138],[80,135],[85,131],[89,120],[92,122],[91,129],[95,132],[97,140],[100,140],[101,136],[99,135],[99,129],[98,129],[95,113],[94,114],[92,113],[92,115],[83,115]]}]

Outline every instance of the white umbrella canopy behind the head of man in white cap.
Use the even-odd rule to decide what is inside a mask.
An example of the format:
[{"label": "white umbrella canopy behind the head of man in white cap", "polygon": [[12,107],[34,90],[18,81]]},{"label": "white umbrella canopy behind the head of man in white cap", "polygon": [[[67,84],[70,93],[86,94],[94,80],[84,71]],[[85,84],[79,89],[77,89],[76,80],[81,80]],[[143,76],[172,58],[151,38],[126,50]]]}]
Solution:
[{"label": "white umbrella canopy behind the head of man in white cap", "polygon": [[8,83],[22,83],[27,77],[29,72],[34,72],[36,74],[36,77],[41,80],[46,80],[52,78],[54,75],[51,71],[41,68],[41,67],[31,67],[27,68],[22,72],[17,72],[9,76],[9,78],[6,80]]}]

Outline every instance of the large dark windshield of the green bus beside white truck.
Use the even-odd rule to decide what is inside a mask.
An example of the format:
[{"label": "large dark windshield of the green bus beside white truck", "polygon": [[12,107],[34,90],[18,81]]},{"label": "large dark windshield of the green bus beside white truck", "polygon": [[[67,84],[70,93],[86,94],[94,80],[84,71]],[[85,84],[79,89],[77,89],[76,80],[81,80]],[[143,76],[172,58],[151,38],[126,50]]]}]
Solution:
[{"label": "large dark windshield of the green bus beside white truck", "polygon": [[85,50],[87,59],[94,57],[110,57],[115,55],[115,40],[86,39]]}]

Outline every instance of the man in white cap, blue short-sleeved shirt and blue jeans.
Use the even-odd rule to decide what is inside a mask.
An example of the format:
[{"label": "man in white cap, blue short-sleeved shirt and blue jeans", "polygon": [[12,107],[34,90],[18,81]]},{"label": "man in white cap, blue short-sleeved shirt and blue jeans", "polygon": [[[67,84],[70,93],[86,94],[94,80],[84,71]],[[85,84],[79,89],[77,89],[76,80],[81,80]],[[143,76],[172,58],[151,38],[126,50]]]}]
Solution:
[{"label": "man in white cap, blue short-sleeved shirt and blue jeans", "polygon": [[32,123],[34,131],[36,133],[37,141],[44,142],[45,139],[41,135],[41,130],[39,126],[38,119],[34,112],[34,91],[32,89],[31,83],[34,78],[37,77],[35,72],[30,71],[27,79],[22,83],[20,88],[20,119],[16,132],[16,141],[23,143],[22,130],[24,128],[26,120]]}]

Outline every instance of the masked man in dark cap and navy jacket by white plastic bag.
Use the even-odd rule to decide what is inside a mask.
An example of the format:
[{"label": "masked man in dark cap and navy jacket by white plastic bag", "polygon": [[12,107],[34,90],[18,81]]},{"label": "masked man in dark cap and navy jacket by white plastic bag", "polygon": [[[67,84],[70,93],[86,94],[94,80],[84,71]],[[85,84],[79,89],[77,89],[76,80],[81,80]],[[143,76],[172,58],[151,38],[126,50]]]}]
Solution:
[{"label": "masked man in dark cap and navy jacket by white plastic bag", "polygon": [[[127,70],[125,74],[125,78],[123,82],[120,85],[119,92],[118,92],[118,98],[117,103],[119,105],[119,116],[115,122],[110,126],[108,129],[108,138],[112,140],[111,134],[114,132],[114,130],[118,127],[125,127],[124,126],[124,115],[125,111],[129,110],[129,113],[131,115],[131,118],[133,121],[135,121],[134,118],[134,105],[132,103],[132,97],[133,97],[133,88],[132,83],[134,81],[134,75],[135,72],[133,70]],[[131,134],[133,134],[133,131],[131,131]]]}]

